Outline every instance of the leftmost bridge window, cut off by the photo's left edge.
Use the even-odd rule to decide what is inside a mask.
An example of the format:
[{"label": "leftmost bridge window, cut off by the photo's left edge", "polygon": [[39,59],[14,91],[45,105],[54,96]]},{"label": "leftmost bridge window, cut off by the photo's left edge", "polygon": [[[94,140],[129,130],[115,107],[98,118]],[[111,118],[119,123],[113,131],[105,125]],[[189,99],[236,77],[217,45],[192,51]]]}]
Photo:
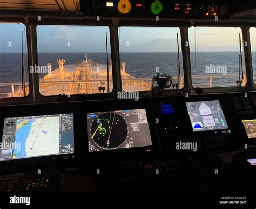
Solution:
[{"label": "leftmost bridge window, cut off by the photo's left edge", "polygon": [[0,98],[29,94],[26,44],[24,24],[0,23]]}]

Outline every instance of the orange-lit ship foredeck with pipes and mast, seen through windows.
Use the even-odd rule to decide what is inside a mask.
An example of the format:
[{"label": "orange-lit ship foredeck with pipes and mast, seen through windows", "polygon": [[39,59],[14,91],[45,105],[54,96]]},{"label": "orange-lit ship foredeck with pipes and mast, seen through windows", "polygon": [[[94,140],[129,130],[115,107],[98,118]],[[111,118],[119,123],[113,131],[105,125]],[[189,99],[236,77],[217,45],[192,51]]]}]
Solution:
[{"label": "orange-lit ship foredeck with pipes and mast, seen through windows", "polygon": [[[58,59],[59,67],[52,70],[51,63],[47,64],[48,74],[39,79],[39,89],[42,95],[58,94],[92,94],[107,93],[107,65],[99,64],[87,58],[74,64],[65,64],[64,59]],[[112,64],[109,60],[109,78],[112,78]],[[122,84],[128,91],[150,90],[151,78],[138,79],[126,73],[125,62],[122,62],[121,69]],[[28,87],[26,87],[28,89]],[[113,88],[112,79],[109,79],[109,89]],[[26,89],[26,90],[27,90]],[[99,91],[100,89],[100,91]],[[29,90],[29,89],[28,89]],[[27,92],[28,92],[27,90]],[[8,96],[18,97],[23,95],[21,86],[17,86]]]}]

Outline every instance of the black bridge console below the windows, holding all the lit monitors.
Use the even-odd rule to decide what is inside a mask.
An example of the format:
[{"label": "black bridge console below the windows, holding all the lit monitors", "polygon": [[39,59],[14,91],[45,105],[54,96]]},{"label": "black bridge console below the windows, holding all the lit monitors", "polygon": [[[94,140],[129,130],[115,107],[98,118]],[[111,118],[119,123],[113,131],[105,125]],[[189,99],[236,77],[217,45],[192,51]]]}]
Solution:
[{"label": "black bridge console below the windows, holding all the lit monitors", "polygon": [[1,149],[0,174],[23,177],[0,189],[66,191],[67,198],[74,191],[190,193],[207,204],[227,193],[248,198],[255,191],[255,108],[254,92],[2,106],[1,146],[20,147]]}]

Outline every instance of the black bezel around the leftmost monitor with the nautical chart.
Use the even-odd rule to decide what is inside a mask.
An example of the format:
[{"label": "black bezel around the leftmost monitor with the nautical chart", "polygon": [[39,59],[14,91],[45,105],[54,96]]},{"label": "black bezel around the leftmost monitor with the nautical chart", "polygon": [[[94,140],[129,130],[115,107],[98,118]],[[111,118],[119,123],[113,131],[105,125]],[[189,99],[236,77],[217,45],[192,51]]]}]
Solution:
[{"label": "black bezel around the leftmost monitor with the nautical chart", "polygon": [[[47,112],[47,114],[46,114]],[[56,114],[73,114],[73,138],[74,138],[74,153],[72,154],[57,154],[36,156],[28,158],[10,159],[0,161],[0,173],[15,173],[15,172],[37,172],[40,169],[42,172],[46,169],[68,168],[76,164],[76,117],[77,113],[72,111],[72,108],[65,106],[63,103],[49,103],[47,105],[19,105],[19,106],[3,106],[0,107],[0,134],[1,142],[3,136],[4,120],[10,117],[28,117],[39,115],[56,115]]]}]

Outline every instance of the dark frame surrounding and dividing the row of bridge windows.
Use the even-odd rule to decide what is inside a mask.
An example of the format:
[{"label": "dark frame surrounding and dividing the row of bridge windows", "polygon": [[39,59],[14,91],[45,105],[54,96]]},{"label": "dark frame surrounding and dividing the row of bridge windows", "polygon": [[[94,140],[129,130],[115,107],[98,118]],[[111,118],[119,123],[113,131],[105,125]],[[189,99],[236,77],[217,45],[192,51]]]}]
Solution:
[{"label": "dark frame surrounding and dividing the row of bridge windows", "polygon": [[[247,84],[242,87],[241,90],[248,90],[256,88],[256,85],[250,79],[250,74],[253,72],[252,69],[252,59],[251,59],[251,45],[250,45],[250,32],[248,31],[250,27],[256,27],[256,23],[248,19],[234,20],[219,20],[215,22],[213,20],[177,20],[177,19],[165,19],[161,18],[159,22],[155,18],[130,18],[130,17],[100,17],[100,21],[96,20],[96,17],[82,17],[82,16],[69,16],[66,15],[45,15],[42,14],[44,21],[38,21],[38,15],[30,15],[24,18],[23,15],[18,15],[17,17],[9,17],[5,15],[0,15],[0,22],[5,23],[23,23],[26,27],[26,39],[28,48],[28,66],[37,64],[37,36],[36,36],[36,26],[37,25],[82,25],[82,26],[109,26],[110,28],[110,43],[111,43],[111,59],[112,59],[112,71],[113,71],[113,91],[111,95],[105,96],[105,94],[93,94],[86,95],[85,98],[80,98],[79,96],[73,96],[69,98],[68,101],[78,101],[78,100],[98,100],[98,99],[113,99],[117,97],[117,91],[122,90],[120,73],[120,59],[119,59],[119,41],[118,41],[118,27],[119,26],[146,26],[146,27],[179,27],[181,30],[181,43],[183,41],[182,37],[188,37],[188,28],[191,26],[217,26],[217,27],[241,27],[242,38],[244,41],[248,41],[248,46],[245,54],[245,65],[246,65],[246,75]],[[136,20],[136,21],[134,21]],[[246,38],[246,39],[245,39]],[[185,39],[184,41],[188,41]],[[182,46],[184,47],[184,46]],[[185,50],[183,50],[185,48]],[[191,63],[190,63],[190,48],[181,48],[183,54],[183,71],[184,71],[184,89],[192,89],[191,85]],[[113,59],[114,58],[114,59]],[[57,102],[59,101],[57,96],[40,96],[39,93],[38,79],[35,75],[29,74],[29,95],[26,97],[15,97],[15,98],[3,98],[0,99],[1,105],[14,105],[14,104],[25,104],[25,103],[45,103],[45,102]],[[204,94],[208,93],[229,93],[238,92],[237,87],[218,87],[218,88],[204,88]],[[149,96],[151,92],[140,92],[139,96]],[[166,95],[171,94],[171,92],[166,91]],[[190,91],[190,94],[195,94]],[[97,96],[98,95],[98,96]]]}]

